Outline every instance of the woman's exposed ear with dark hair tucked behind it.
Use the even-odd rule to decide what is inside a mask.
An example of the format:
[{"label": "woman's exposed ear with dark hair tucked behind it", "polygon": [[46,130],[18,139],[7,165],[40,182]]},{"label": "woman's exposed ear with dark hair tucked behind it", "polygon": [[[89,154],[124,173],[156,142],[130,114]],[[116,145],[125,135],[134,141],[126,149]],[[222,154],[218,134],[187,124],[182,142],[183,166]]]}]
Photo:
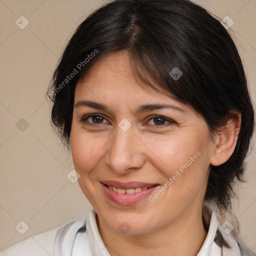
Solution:
[{"label": "woman's exposed ear with dark hair tucked behind it", "polygon": [[214,137],[210,164],[218,166],[228,160],[234,151],[241,125],[241,113],[231,110],[224,117],[224,125]]}]

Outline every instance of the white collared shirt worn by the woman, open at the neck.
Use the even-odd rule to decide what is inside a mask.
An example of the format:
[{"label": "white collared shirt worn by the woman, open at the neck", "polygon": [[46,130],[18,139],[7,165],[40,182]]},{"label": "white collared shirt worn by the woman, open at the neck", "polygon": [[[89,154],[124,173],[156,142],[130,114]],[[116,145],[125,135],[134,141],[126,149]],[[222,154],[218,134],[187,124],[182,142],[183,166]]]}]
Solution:
[{"label": "white collared shirt worn by the woman, open at the neck", "polygon": [[[246,251],[241,254],[234,237],[231,233],[226,234],[221,230],[214,210],[208,209],[210,212],[208,232],[196,256],[256,255],[246,248]],[[98,232],[95,214],[95,210],[90,208],[85,221],[65,223],[57,228],[33,235],[7,248],[0,256],[111,256]],[[218,238],[221,236],[230,248],[217,245]]]}]

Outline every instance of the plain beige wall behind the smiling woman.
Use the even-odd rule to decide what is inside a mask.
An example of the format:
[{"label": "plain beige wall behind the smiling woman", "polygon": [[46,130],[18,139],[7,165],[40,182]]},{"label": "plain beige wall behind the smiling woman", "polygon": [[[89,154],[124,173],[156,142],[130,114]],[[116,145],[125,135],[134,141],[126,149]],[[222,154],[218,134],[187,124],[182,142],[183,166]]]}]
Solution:
[{"label": "plain beige wall behind the smiling woman", "polygon": [[[33,234],[84,219],[90,208],[78,183],[66,177],[73,165],[70,153],[50,127],[45,92],[68,38],[103,2],[0,0],[0,251]],[[255,104],[256,0],[195,2],[234,21],[230,33],[243,59]],[[21,15],[29,21],[24,29],[15,24]],[[28,124],[23,131],[16,126],[21,118]],[[240,237],[256,251],[254,165],[252,150],[248,182],[238,190],[234,211],[241,224]],[[20,221],[29,226],[24,234],[15,229]]]}]

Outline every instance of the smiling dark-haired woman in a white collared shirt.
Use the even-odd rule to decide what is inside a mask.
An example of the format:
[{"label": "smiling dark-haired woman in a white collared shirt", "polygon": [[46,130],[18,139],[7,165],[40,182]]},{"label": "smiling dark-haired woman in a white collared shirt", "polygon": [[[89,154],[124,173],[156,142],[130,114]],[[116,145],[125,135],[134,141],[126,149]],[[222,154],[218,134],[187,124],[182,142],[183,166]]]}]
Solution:
[{"label": "smiling dark-haired woman in a white collared shirt", "polygon": [[47,97],[92,208],[2,256],[256,255],[224,219],[254,112],[237,49],[205,9],[105,4],[68,42]]}]

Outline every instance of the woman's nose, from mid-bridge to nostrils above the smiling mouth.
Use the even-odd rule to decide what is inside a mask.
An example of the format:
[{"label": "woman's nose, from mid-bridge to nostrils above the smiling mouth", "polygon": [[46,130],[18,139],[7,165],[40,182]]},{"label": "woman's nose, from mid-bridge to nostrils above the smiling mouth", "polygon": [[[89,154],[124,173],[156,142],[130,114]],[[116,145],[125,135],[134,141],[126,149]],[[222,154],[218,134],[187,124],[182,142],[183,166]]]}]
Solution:
[{"label": "woman's nose, from mid-bridge to nostrils above the smiling mouth", "polygon": [[106,165],[118,174],[141,168],[144,164],[143,143],[132,127],[126,131],[117,127],[107,148]]}]

